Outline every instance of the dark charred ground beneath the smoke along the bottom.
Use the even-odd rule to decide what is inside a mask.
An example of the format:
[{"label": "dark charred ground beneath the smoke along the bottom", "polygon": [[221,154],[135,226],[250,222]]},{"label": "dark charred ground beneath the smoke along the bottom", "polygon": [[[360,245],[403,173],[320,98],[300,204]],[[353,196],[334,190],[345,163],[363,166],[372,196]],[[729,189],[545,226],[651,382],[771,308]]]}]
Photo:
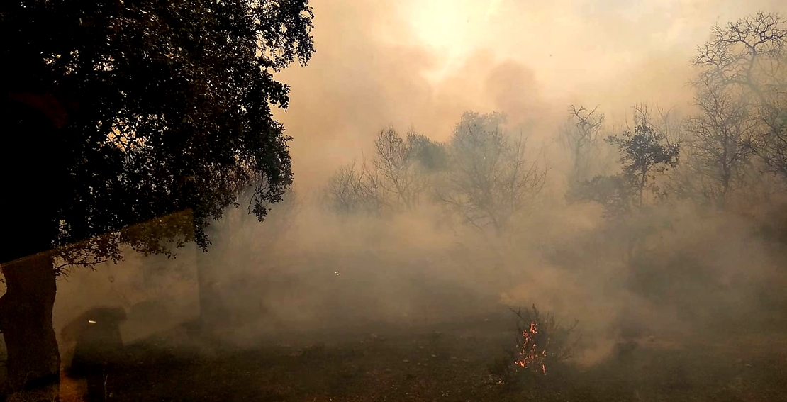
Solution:
[{"label": "dark charred ground beneath the smoke along the bottom", "polygon": [[[787,400],[784,334],[650,338],[593,367],[552,367],[512,387],[489,374],[511,344],[510,320],[323,331],[243,349],[188,328],[127,345],[109,375],[112,400]],[[65,382],[61,400],[80,388]]]}]

